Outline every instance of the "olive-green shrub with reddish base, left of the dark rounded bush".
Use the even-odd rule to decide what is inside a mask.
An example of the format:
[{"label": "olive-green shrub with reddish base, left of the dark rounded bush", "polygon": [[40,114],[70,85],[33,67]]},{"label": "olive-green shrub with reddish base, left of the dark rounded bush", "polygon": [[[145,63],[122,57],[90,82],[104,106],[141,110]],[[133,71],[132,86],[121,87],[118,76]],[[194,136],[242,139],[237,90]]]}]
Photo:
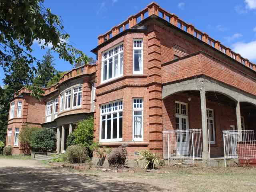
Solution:
[{"label": "olive-green shrub with reddish base, left of the dark rounded bush", "polygon": [[20,145],[22,146],[25,154],[31,154],[30,152],[31,140],[36,134],[36,132],[38,132],[41,129],[42,128],[40,127],[30,127],[28,125],[25,125],[20,130],[20,134],[18,137],[19,137]]}]

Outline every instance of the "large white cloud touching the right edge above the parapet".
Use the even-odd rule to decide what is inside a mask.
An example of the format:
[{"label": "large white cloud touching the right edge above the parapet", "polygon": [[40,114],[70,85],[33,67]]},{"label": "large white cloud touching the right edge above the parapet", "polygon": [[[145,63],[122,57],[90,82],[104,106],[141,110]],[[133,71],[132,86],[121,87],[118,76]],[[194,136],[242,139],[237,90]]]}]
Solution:
[{"label": "large white cloud touching the right edge above the parapet", "polygon": [[256,41],[245,43],[243,41],[232,44],[232,50],[238,52],[244,58],[248,58],[251,61],[256,61]]}]

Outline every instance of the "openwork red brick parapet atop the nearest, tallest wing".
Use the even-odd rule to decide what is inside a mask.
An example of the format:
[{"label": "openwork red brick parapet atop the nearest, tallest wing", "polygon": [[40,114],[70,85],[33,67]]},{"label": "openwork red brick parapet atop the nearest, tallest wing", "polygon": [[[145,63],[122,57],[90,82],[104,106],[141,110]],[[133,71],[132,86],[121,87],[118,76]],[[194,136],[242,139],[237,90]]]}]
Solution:
[{"label": "openwork red brick parapet atop the nearest, tallest wing", "polygon": [[[193,35],[194,37],[202,40],[206,44],[209,44],[210,46],[234,58],[242,64],[244,64],[244,61],[246,60],[246,58],[242,58],[239,54],[233,52],[232,50],[230,50],[230,48],[224,46],[218,40],[214,40],[213,38],[209,37],[208,34],[206,34],[205,32],[201,32],[200,30],[195,28],[192,24],[184,22],[174,13],[170,13],[164,10],[155,2],[151,2],[146,8],[142,9],[140,12],[129,16],[128,19],[124,22],[112,27],[112,29],[105,34],[98,36],[98,45],[104,43],[106,40],[109,40],[111,37],[116,36],[117,34],[128,28],[132,28],[137,23],[144,20],[146,18],[146,15],[156,15],[163,18],[164,20],[167,20],[174,26],[180,28],[181,30],[184,30],[185,32],[188,32],[190,35]],[[249,61],[248,65],[246,66],[250,67],[252,70],[256,70],[256,64],[253,64]]]}]

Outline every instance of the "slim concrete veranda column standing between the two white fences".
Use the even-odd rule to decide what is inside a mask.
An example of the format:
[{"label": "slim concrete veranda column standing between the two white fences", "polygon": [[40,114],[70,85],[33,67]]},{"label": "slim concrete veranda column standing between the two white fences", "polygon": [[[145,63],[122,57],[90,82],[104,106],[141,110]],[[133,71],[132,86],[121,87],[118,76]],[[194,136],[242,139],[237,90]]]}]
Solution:
[{"label": "slim concrete veranda column standing between the two white fences", "polygon": [[210,152],[208,149],[208,129],[207,129],[207,116],[206,116],[206,97],[205,90],[202,88],[200,90],[201,98],[201,115],[202,115],[202,133],[203,133],[203,152],[202,158],[203,162],[209,162]]}]

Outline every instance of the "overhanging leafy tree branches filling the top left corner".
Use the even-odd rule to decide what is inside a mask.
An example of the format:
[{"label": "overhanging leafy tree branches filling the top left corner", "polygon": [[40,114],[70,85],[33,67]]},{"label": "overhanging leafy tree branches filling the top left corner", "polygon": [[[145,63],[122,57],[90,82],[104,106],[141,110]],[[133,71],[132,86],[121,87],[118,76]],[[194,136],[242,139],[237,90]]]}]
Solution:
[{"label": "overhanging leafy tree branches filling the top left corner", "polygon": [[[42,62],[32,55],[35,41],[41,48],[51,50],[61,59],[74,63],[88,63],[89,58],[69,42],[62,20],[44,7],[44,0],[0,1],[0,65],[5,74],[24,76],[25,85],[39,98],[42,90],[33,85],[33,79]],[[1,88],[0,88],[1,89]]]}]

